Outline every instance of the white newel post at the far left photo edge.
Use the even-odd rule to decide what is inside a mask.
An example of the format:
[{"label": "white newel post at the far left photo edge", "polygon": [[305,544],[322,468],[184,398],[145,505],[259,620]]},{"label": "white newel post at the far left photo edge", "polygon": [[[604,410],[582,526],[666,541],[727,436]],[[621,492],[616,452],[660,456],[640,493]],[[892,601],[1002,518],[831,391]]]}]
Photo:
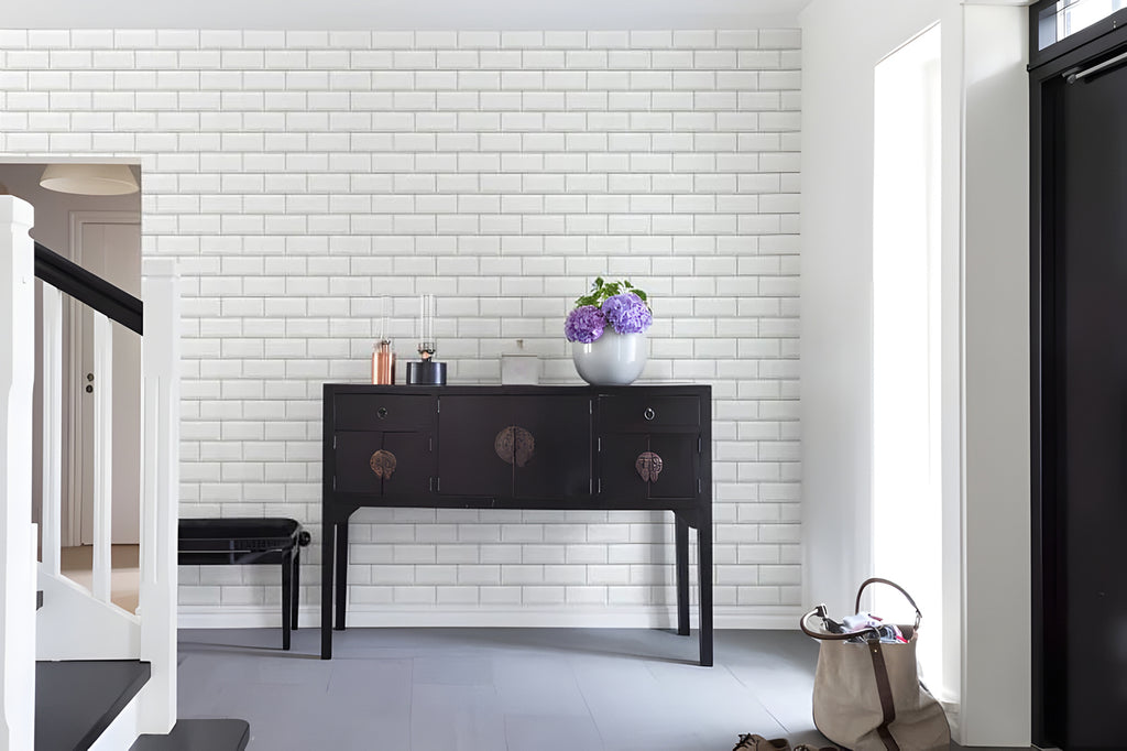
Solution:
[{"label": "white newel post at the far left photo edge", "polygon": [[0,751],[35,745],[34,220],[29,203],[0,195]]}]

